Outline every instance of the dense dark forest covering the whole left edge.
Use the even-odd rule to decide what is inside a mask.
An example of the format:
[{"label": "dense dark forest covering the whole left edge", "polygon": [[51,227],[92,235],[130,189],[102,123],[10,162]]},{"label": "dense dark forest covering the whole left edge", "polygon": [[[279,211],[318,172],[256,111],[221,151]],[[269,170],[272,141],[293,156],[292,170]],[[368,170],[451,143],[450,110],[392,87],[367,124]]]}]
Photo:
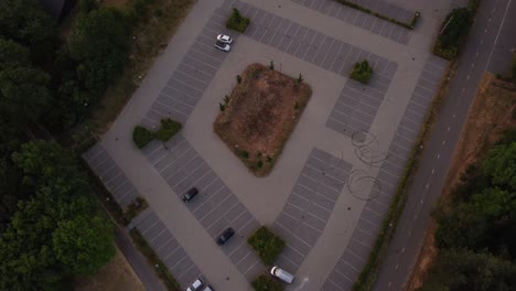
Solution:
[{"label": "dense dark forest covering the whole left edge", "polygon": [[39,0],[0,1],[0,290],[69,289],[115,255],[76,154],[53,137],[121,72],[135,14],[95,0],[77,11],[60,36]]}]

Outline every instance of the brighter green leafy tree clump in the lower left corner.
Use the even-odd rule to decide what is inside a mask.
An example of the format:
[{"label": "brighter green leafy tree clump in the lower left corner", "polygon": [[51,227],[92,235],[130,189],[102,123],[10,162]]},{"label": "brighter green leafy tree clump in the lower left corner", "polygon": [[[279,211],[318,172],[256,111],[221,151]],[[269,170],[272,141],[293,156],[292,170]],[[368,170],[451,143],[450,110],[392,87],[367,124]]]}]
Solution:
[{"label": "brighter green leafy tree clump in the lower left corner", "polygon": [[19,202],[0,237],[0,289],[56,290],[73,276],[95,273],[115,255],[112,227],[73,153],[37,141],[12,161],[34,194]]}]

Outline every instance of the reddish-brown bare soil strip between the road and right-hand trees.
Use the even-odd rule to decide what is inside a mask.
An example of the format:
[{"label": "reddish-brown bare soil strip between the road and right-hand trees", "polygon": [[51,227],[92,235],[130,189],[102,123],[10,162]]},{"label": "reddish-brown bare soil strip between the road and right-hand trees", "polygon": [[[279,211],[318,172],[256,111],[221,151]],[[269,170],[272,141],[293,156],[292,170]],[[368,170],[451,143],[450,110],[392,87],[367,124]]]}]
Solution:
[{"label": "reddish-brown bare soil strip between the road and right-hand trees", "polygon": [[[504,130],[516,127],[516,120],[513,118],[515,110],[516,85],[498,80],[492,74],[485,73],[453,153],[441,198],[445,200],[450,195],[460,181],[460,174],[469,164],[484,158],[487,149]],[[436,229],[437,224],[432,219],[406,290],[417,290],[422,285],[427,271],[438,255],[439,249],[433,239]]]}]

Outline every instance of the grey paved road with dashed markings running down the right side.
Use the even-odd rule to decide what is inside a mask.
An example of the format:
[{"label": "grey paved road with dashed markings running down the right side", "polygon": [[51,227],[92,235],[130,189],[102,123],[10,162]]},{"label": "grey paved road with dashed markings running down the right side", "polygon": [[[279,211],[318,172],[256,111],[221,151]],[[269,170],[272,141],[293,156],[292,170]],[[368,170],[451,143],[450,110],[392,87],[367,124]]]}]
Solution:
[{"label": "grey paved road with dashed markings running down the right side", "polygon": [[[374,290],[401,290],[416,263],[430,213],[441,187],[469,108],[484,71],[496,55],[495,46],[510,34],[499,33],[516,14],[516,1],[483,1],[450,94],[430,136],[420,169],[410,187],[405,212],[389,247]],[[498,37],[502,35],[501,37]],[[513,35],[514,36],[514,35]],[[509,60],[499,61],[510,62]]]}]

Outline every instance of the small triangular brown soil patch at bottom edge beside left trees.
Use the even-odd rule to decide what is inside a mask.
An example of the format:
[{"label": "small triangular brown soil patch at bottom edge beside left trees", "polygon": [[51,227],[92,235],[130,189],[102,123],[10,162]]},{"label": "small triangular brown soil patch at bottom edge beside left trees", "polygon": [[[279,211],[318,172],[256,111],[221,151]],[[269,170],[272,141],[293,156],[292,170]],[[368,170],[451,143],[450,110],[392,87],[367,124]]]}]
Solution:
[{"label": "small triangular brown soil patch at bottom edge beside left trees", "polygon": [[75,282],[76,291],[144,291],[146,288],[118,248],[111,261],[95,277],[80,278]]}]

